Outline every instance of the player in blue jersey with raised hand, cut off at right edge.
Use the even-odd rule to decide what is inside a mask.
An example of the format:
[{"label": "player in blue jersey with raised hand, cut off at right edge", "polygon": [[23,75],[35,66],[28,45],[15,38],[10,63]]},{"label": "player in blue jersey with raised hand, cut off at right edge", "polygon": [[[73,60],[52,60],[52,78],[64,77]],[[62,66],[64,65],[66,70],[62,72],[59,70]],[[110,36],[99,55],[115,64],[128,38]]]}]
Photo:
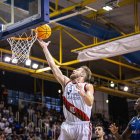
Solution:
[{"label": "player in blue jersey with raised hand, cut off at right edge", "polygon": [[118,140],[127,140],[129,138],[131,140],[140,140],[140,98],[137,99],[134,109],[138,115],[130,120],[122,135],[119,135],[118,127],[115,124],[110,125],[110,131]]}]

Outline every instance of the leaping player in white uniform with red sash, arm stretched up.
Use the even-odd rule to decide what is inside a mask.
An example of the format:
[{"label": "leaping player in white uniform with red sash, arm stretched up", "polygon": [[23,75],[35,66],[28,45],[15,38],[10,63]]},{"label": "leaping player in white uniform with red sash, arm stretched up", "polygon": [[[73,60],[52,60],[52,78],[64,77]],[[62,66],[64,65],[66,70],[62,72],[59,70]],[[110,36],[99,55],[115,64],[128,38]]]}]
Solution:
[{"label": "leaping player in white uniform with red sash, arm stretched up", "polygon": [[88,83],[91,71],[88,67],[82,66],[74,70],[70,78],[64,76],[47,48],[50,42],[39,40],[39,43],[55,78],[63,89],[63,112],[66,121],[61,125],[58,140],[90,140],[92,134],[90,116],[94,100],[94,88]]}]

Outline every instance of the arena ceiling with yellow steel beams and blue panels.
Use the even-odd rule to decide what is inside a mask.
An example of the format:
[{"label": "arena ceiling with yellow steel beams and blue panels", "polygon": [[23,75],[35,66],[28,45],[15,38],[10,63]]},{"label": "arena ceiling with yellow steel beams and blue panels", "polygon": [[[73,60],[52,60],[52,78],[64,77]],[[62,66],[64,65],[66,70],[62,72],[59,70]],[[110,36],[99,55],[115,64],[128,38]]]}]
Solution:
[{"label": "arena ceiling with yellow steel beams and blue panels", "polygon": [[[109,1],[111,0],[50,0],[49,25],[52,28],[52,35],[46,41],[51,40],[49,50],[64,74],[69,75],[71,70],[87,65],[93,73],[92,83],[97,90],[115,96],[137,98],[140,96],[139,51],[93,61],[77,61],[78,53],[75,49],[87,48],[91,44],[93,44],[91,46],[98,45],[102,41],[117,37],[125,38],[129,34],[139,34],[140,0],[112,0],[115,6],[108,12],[102,8]],[[85,9],[88,11],[80,13]],[[75,17],[76,20],[84,21],[83,27],[79,21],[74,21]],[[90,30],[93,30],[93,33]],[[110,30],[113,31],[110,36],[103,36]],[[6,40],[0,42],[0,48],[1,52],[10,53],[10,46]],[[31,49],[31,56],[42,67],[47,67],[45,56],[37,42]],[[0,63],[2,70],[55,81],[51,72],[41,69],[42,67],[36,71],[23,65],[7,64],[2,61]],[[116,87],[110,87],[111,81]],[[123,91],[125,85],[129,87],[127,92]]]}]

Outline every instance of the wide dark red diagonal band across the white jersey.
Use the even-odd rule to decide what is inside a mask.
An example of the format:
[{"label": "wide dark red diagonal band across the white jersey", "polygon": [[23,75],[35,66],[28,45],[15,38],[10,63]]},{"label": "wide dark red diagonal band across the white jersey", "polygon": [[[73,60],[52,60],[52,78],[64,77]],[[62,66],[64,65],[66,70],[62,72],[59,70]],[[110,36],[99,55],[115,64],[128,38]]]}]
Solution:
[{"label": "wide dark red diagonal band across the white jersey", "polygon": [[[72,113],[74,116],[79,118],[82,121],[90,121],[90,118],[80,109],[75,107],[73,104],[67,101],[67,99],[63,96],[63,104],[65,105],[66,109]],[[72,110],[73,109],[73,110]]]}]

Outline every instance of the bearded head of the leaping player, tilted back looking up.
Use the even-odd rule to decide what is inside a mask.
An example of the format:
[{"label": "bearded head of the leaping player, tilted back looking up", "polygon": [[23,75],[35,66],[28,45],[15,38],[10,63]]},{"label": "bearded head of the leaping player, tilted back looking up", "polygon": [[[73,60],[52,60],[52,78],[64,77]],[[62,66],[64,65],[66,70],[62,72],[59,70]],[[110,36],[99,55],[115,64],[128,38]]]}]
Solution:
[{"label": "bearded head of the leaping player, tilted back looking up", "polygon": [[77,78],[83,77],[85,82],[89,82],[91,79],[91,71],[87,66],[81,66],[80,68],[73,70],[70,75],[71,80],[75,80]]}]

